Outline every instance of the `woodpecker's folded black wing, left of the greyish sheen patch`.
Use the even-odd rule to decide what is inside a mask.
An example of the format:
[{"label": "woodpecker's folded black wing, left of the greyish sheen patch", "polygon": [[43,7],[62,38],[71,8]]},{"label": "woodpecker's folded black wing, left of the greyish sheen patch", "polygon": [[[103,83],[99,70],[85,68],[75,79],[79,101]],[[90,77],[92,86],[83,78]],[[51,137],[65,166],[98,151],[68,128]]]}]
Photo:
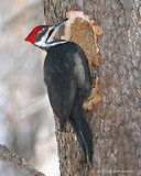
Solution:
[{"label": "woodpecker's folded black wing, left of the greyish sheen patch", "polygon": [[[76,94],[76,79],[74,63],[64,56],[54,55],[56,52],[48,52],[44,63],[44,80],[52,109],[59,119],[63,131],[69,117]],[[55,61],[57,58],[57,61]]]}]

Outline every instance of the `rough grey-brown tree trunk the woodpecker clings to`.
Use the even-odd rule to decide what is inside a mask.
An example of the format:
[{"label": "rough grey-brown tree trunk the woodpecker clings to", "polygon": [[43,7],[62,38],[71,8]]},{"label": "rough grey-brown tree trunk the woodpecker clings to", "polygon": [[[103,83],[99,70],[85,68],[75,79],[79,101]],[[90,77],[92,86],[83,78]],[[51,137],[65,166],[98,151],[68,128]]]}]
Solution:
[{"label": "rough grey-brown tree trunk the woodpecker clings to", "polygon": [[[87,13],[89,19],[96,19],[95,25],[102,31],[102,37],[96,37],[100,62],[94,64],[98,67],[98,82],[95,85],[98,89],[95,96],[100,95],[101,98],[93,102],[91,110],[87,110],[87,120],[94,134],[93,167],[84,165],[83,153],[70,125],[67,124],[66,133],[61,133],[55,118],[61,175],[139,176],[141,1],[44,0],[45,21],[48,24],[65,18],[66,11],[68,13],[76,9]],[[87,45],[89,40],[83,36]]]}]

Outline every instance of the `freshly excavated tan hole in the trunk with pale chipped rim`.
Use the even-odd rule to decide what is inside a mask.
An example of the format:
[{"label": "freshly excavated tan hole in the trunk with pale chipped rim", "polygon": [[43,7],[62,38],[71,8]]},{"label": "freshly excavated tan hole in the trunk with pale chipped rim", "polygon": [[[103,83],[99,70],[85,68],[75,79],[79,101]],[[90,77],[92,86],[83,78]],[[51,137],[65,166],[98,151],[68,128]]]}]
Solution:
[{"label": "freshly excavated tan hole in the trunk with pale chipped rim", "polygon": [[[95,20],[90,19],[83,11],[69,11],[66,13],[68,18],[65,23],[64,35],[62,38],[75,42],[85,52],[90,73],[100,66],[99,62],[99,47],[97,45],[97,36],[102,35],[102,31]],[[91,78],[90,96],[84,102],[84,109],[91,110],[93,105],[101,100],[98,95],[98,76]]]}]

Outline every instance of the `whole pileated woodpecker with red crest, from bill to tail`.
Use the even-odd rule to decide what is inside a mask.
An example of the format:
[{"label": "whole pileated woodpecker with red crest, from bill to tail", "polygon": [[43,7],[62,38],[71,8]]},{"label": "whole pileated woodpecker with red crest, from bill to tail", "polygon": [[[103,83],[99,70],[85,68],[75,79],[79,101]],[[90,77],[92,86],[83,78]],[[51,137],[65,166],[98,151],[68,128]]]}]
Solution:
[{"label": "whole pileated woodpecker with red crest, from bill to tail", "polygon": [[68,121],[84,152],[93,165],[93,134],[86,121],[83,101],[90,94],[90,73],[83,50],[65,40],[54,41],[54,35],[67,19],[54,25],[39,25],[25,37],[47,54],[44,62],[44,81],[55,116],[59,120],[61,132]]}]

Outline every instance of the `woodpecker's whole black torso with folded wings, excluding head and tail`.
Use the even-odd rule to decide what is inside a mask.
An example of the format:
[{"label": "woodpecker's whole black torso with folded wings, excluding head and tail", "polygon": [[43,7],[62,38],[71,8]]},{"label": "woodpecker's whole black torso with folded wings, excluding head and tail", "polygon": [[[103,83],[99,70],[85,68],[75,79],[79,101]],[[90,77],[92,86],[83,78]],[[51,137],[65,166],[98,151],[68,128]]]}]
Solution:
[{"label": "woodpecker's whole black torso with folded wings, excluding head and tail", "polygon": [[48,50],[44,63],[44,80],[61,128],[65,127],[70,114],[76,91],[80,94],[82,100],[89,95],[88,72],[87,58],[78,45],[68,42]]}]

